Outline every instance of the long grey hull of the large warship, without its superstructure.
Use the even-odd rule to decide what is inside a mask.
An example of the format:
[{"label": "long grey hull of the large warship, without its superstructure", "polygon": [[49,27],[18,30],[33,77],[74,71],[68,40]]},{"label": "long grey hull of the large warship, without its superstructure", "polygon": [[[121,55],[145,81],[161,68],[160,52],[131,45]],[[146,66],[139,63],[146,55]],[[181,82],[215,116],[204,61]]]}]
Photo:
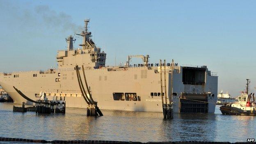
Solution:
[{"label": "long grey hull of the large warship, without its superstructure", "polygon": [[[157,72],[159,67],[134,67],[121,68],[114,71],[110,68],[86,69],[85,75],[89,85],[90,93],[94,101],[98,102],[98,107],[105,110],[127,110],[144,112],[162,112],[162,100],[159,95],[161,92],[160,74]],[[167,68],[169,71],[170,68]],[[34,76],[37,74],[37,77]],[[82,81],[85,80],[80,70]],[[14,77],[18,75],[18,77]],[[171,87],[171,73],[167,73],[167,101],[169,101]],[[182,69],[173,74],[173,92],[181,94],[203,93],[211,89],[214,98],[209,98],[208,113],[215,112],[215,103],[217,101],[217,77],[206,75],[204,85],[183,84]],[[40,71],[11,73],[10,75],[0,74],[0,85],[11,96],[14,103],[33,105],[33,103],[21,97],[13,87],[23,92],[27,97],[36,101],[40,92],[55,91],[55,96],[47,95],[49,100],[55,97],[65,98],[66,107],[87,107],[83,99],[78,79],[74,68],[57,69],[54,73],[41,73]],[[71,92],[66,91],[75,91]],[[78,94],[80,93],[80,94]],[[140,101],[117,101],[113,99],[114,93],[136,93],[140,96]],[[153,96],[152,96],[153,94]],[[155,96],[157,94],[157,96]],[[174,101],[174,112],[179,112],[179,101]]]}]

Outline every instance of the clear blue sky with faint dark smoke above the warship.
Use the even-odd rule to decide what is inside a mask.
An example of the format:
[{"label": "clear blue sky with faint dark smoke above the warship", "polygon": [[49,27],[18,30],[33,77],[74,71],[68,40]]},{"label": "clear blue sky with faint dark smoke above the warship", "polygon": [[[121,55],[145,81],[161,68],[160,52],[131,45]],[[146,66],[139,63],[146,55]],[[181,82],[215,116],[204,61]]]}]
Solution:
[{"label": "clear blue sky with faint dark smoke above the warship", "polygon": [[149,54],[152,63],[207,65],[219,75],[219,91],[232,96],[246,78],[256,90],[255,0],[0,0],[0,14],[0,72],[56,67],[64,38],[90,18],[107,65],[116,52],[117,63]]}]

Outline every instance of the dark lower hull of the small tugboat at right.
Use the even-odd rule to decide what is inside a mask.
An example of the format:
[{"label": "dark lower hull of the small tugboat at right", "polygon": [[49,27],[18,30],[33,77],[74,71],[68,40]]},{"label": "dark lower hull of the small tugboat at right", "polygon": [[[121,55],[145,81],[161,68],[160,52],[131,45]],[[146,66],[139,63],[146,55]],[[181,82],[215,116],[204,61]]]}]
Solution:
[{"label": "dark lower hull of the small tugboat at right", "polygon": [[248,116],[256,116],[256,110],[241,110],[237,107],[230,107],[230,106],[221,106],[220,111],[224,115],[248,115]]}]

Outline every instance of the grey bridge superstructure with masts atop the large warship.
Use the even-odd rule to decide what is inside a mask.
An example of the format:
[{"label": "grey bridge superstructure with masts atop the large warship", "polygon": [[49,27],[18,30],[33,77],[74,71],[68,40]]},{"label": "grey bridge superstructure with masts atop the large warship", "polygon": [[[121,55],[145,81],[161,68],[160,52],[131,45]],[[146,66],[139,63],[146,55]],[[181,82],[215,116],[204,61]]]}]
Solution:
[{"label": "grey bridge superstructure with masts atop the large warship", "polygon": [[85,67],[98,68],[105,66],[106,53],[101,52],[101,48],[91,39],[91,32],[88,32],[89,20],[85,20],[84,30],[79,35],[83,37],[81,48],[73,48],[73,42],[76,40],[72,36],[66,38],[67,50],[59,50],[57,62],[59,68],[73,68],[75,65],[84,65]]}]

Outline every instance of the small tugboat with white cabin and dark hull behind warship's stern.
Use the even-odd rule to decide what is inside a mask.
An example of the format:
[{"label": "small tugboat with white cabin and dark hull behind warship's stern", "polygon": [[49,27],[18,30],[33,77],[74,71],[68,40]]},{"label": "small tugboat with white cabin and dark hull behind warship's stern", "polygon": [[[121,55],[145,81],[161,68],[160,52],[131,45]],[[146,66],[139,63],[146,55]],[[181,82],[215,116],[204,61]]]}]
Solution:
[{"label": "small tugboat with white cabin and dark hull behind warship's stern", "polygon": [[238,102],[228,103],[220,107],[222,114],[227,115],[256,115],[256,102],[254,94],[248,94],[249,79],[247,79],[246,92],[238,96]]}]

